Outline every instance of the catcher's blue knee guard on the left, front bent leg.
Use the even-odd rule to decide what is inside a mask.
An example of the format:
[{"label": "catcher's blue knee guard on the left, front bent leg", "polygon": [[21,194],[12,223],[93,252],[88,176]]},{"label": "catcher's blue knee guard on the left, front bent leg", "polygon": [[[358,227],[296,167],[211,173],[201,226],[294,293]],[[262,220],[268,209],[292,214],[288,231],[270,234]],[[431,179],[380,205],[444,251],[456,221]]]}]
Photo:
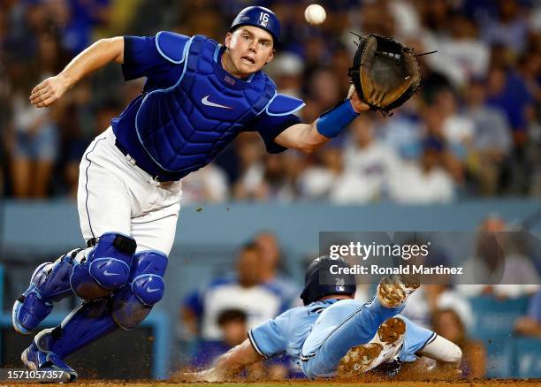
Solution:
[{"label": "catcher's blue knee guard on the left, front bent leg", "polygon": [[96,300],[126,285],[130,276],[135,239],[116,232],[104,233],[85,258],[73,268],[73,292],[83,300]]}]

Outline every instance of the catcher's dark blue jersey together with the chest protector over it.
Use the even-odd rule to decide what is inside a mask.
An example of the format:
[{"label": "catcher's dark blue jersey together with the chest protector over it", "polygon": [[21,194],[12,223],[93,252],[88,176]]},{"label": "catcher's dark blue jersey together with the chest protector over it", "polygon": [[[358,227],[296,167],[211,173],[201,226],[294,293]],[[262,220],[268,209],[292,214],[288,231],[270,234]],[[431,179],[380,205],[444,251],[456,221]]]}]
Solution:
[{"label": "catcher's dark blue jersey together with the chest protector over it", "polygon": [[277,94],[263,72],[248,80],[225,72],[224,51],[202,35],[125,37],[125,80],[147,81],[111,125],[118,148],[159,180],[202,168],[241,132],[257,131],[270,153],[281,152],[274,139],[301,122],[293,114],[301,100]]}]

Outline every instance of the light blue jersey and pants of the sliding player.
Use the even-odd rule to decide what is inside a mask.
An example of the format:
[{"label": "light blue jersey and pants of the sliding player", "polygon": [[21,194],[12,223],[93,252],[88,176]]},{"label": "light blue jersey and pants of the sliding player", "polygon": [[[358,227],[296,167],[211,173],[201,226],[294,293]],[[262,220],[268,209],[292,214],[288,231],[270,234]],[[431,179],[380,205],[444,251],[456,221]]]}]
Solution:
[{"label": "light blue jersey and pants of the sliding player", "polygon": [[[339,361],[352,347],[368,343],[381,323],[402,309],[383,307],[377,298],[366,304],[356,300],[316,301],[263,322],[248,332],[248,338],[265,358],[287,353],[306,376],[334,376]],[[413,361],[415,352],[436,334],[400,318],[407,328],[399,360]]]}]

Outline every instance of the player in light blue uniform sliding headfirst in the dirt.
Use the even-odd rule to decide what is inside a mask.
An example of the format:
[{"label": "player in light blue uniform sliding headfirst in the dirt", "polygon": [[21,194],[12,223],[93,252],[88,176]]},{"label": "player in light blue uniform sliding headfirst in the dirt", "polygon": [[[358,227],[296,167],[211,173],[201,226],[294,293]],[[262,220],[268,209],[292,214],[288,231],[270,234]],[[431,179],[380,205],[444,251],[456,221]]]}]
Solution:
[{"label": "player in light blue uniform sliding headfirst in the dirt", "polygon": [[[431,368],[423,363],[424,378],[431,374],[459,376],[461,349],[399,315],[418,283],[405,277],[384,277],[374,299],[362,303],[354,300],[353,275],[333,276],[336,284],[345,284],[339,286],[320,280],[320,270],[329,268],[325,262],[329,260],[319,257],[309,265],[301,294],[304,307],[294,307],[263,322],[248,332],[244,343],[219,357],[214,368],[185,374],[184,378],[233,380],[243,368],[283,353],[309,378],[354,378],[370,370],[394,376],[402,363],[411,364],[421,357],[433,360]],[[349,267],[341,259],[331,264]]]}]

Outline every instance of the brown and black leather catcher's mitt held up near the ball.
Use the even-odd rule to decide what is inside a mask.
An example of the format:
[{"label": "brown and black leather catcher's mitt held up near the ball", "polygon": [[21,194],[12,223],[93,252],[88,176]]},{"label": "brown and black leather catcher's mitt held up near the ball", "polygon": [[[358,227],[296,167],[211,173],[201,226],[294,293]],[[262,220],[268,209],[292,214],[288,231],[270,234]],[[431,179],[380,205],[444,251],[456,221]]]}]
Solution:
[{"label": "brown and black leather catcher's mitt held up near the ball", "polygon": [[412,50],[399,42],[377,34],[359,38],[348,75],[362,102],[385,117],[419,88],[419,65]]}]

